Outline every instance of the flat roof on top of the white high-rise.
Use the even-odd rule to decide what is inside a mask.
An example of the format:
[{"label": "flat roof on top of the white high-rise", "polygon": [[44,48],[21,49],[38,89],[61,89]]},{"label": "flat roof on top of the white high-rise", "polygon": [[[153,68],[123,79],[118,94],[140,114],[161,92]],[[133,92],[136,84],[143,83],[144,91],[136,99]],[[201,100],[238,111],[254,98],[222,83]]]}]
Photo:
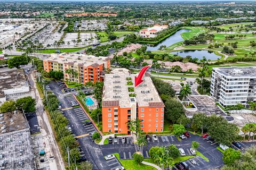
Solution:
[{"label": "flat roof on top of the white high-rise", "polygon": [[256,66],[250,67],[213,67],[218,71],[230,77],[256,77]]}]

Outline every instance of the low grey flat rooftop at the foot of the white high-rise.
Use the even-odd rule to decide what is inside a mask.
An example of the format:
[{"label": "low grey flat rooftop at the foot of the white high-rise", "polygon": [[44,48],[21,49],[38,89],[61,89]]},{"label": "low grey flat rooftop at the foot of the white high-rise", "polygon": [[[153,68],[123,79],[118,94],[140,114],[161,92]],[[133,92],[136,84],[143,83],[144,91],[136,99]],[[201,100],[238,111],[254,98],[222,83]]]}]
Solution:
[{"label": "low grey flat rooftop at the foot of the white high-rise", "polygon": [[206,115],[223,115],[221,109],[215,105],[214,99],[207,95],[191,95],[188,97],[189,100],[197,107],[196,111],[189,111],[186,109],[186,115],[188,117],[193,116],[196,113],[204,113]]}]

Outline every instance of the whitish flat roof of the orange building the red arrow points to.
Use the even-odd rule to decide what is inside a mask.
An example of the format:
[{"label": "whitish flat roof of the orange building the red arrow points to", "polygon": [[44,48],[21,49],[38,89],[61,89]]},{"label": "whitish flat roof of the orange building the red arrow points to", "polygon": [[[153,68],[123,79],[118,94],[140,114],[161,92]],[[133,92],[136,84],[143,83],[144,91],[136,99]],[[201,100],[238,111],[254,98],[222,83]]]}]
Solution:
[{"label": "whitish flat roof of the orange building the red arrow points to", "polygon": [[[105,75],[103,88],[103,105],[115,105],[120,107],[130,107],[129,94],[135,94],[138,106],[163,107],[163,101],[150,77],[144,76],[144,82],[134,88],[135,75],[130,74],[127,69],[114,69],[112,74]],[[132,85],[127,85],[127,82]]]}]

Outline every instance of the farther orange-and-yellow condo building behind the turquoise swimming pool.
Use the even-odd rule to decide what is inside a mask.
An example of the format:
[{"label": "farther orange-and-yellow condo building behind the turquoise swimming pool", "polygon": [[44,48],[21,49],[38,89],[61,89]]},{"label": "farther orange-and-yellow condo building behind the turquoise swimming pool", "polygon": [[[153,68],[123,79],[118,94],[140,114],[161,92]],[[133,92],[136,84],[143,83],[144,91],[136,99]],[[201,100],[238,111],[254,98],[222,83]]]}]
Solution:
[{"label": "farther orange-and-yellow condo building behind the turquoise swimming pool", "polygon": [[[65,80],[70,80],[79,83],[86,83],[89,81],[97,82],[103,81],[101,74],[103,68],[110,69],[110,58],[95,57],[93,55],[84,54],[51,54],[51,57],[43,61],[44,71],[62,71]],[[78,73],[75,78],[72,75],[65,73],[66,69],[73,69]]]}]

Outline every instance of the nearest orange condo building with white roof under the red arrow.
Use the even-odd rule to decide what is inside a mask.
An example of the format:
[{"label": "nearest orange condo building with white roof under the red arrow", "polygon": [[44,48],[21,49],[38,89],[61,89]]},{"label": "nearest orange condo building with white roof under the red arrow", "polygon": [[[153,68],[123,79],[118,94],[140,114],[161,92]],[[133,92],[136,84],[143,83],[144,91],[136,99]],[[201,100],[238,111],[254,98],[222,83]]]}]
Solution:
[{"label": "nearest orange condo building with white roof under the red arrow", "polygon": [[[146,74],[139,86],[134,87],[134,77],[127,69],[114,69],[105,75],[102,95],[103,132],[126,133],[127,122],[141,120],[143,132],[162,132],[164,129],[164,104]],[[128,85],[128,84],[133,85]],[[132,97],[135,96],[135,97]]]}]

